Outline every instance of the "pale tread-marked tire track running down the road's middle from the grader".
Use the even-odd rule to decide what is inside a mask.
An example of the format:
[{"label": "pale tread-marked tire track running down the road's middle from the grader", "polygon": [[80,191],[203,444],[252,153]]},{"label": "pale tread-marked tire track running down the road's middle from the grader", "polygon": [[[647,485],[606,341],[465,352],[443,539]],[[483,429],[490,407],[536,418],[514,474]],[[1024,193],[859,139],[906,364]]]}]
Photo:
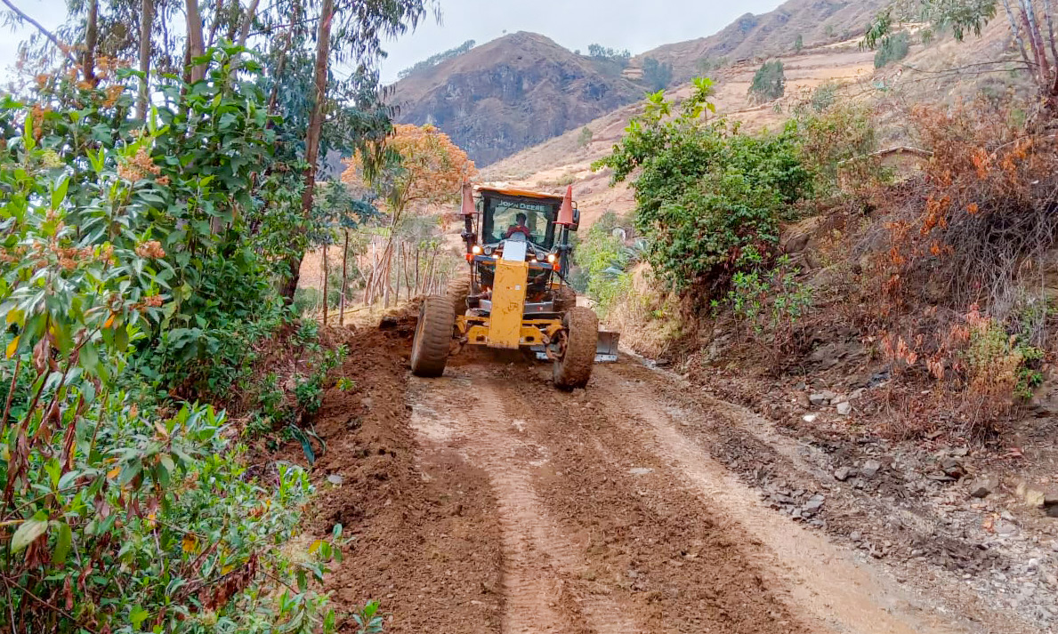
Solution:
[{"label": "pale tread-marked tire track running down the road's middle from the grader", "polygon": [[[547,462],[547,450],[518,437],[524,423],[511,411],[507,386],[487,372],[449,374],[452,380],[423,381],[409,393],[413,428],[424,444],[458,447],[489,478],[504,548],[503,633],[640,632],[616,601],[577,592],[585,568],[580,548],[549,517],[533,486],[534,469]],[[477,406],[464,407],[468,398]],[[454,411],[459,409],[474,413]]]}]

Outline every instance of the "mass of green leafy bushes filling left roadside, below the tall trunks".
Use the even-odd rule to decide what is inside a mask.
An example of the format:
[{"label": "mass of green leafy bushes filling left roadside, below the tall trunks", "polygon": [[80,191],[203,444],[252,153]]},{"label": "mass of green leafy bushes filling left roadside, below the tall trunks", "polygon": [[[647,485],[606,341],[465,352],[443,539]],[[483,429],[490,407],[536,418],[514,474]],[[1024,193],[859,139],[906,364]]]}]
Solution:
[{"label": "mass of green leafy bushes filling left roadside, below the tall trunks", "polygon": [[[128,361],[156,341],[180,358],[201,344],[166,344],[162,324],[251,319],[267,297],[252,241],[233,237],[250,176],[222,149],[267,152],[267,117],[249,87],[224,86],[226,63],[216,83],[183,87],[183,113],[161,107],[146,129],[124,124],[120,85],[77,89],[77,110],[0,110],[0,613],[16,630],[334,624],[308,588],[321,565],[294,566],[280,548],[310,492],[305,473],[248,477],[222,413],[122,387],[143,385]],[[193,130],[181,128],[188,115]],[[195,152],[211,149],[196,166],[207,174],[194,176]],[[221,236],[213,218],[231,223]],[[241,295],[215,294],[225,276],[247,280]],[[288,589],[262,594],[266,577]]]}]

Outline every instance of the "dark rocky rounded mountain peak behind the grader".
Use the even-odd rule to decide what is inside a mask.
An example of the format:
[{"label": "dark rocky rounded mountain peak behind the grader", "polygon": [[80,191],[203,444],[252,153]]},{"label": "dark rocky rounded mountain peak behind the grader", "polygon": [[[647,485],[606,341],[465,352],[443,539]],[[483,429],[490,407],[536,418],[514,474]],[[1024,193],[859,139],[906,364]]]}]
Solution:
[{"label": "dark rocky rounded mountain peak behind the grader", "polygon": [[516,33],[395,86],[398,120],[433,124],[489,165],[640,99],[621,69]]}]

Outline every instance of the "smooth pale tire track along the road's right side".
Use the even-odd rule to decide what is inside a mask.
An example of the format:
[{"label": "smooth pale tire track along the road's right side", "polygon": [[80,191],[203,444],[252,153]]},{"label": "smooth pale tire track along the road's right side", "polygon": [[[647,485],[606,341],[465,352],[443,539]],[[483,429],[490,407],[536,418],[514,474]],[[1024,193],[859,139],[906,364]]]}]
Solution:
[{"label": "smooth pale tire track along the road's right side", "polygon": [[[768,564],[785,579],[792,608],[837,632],[916,634],[980,631],[954,624],[955,618],[931,615],[901,591],[887,588],[876,575],[859,567],[825,538],[767,509],[708,451],[679,431],[654,389],[627,380],[617,367],[599,368],[591,389],[599,400],[617,404],[612,421],[624,425],[665,464],[704,504],[720,507],[747,538],[770,552]],[[663,381],[663,379],[659,379]],[[671,390],[675,386],[659,385]],[[597,396],[598,397],[598,396]],[[613,411],[613,410],[612,410]],[[683,415],[694,415],[681,412]],[[686,422],[685,422],[686,424]]]}]

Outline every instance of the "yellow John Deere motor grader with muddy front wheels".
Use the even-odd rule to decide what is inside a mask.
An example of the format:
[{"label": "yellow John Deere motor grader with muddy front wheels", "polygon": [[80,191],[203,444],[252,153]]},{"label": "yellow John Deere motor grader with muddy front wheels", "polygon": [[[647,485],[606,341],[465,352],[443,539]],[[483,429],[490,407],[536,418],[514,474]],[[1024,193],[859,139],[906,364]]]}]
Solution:
[{"label": "yellow John Deere motor grader with muddy front wheels", "polygon": [[464,346],[524,350],[553,365],[554,385],[583,388],[596,361],[617,360],[618,334],[577,305],[567,283],[580,224],[572,187],[565,198],[463,186],[463,230],[470,271],[445,295],[426,297],[412,348],[412,372],[440,376]]}]

